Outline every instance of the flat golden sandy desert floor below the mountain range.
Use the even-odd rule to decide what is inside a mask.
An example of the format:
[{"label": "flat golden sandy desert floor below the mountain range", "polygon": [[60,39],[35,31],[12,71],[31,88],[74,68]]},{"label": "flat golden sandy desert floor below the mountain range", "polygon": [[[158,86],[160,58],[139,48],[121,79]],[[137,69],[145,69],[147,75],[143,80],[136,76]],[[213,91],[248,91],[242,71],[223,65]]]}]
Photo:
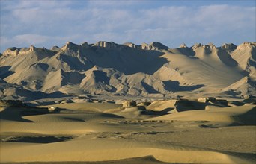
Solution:
[{"label": "flat golden sandy desert floor below the mountain range", "polygon": [[254,104],[166,112],[168,103],[1,107],[0,162],[256,163]]}]

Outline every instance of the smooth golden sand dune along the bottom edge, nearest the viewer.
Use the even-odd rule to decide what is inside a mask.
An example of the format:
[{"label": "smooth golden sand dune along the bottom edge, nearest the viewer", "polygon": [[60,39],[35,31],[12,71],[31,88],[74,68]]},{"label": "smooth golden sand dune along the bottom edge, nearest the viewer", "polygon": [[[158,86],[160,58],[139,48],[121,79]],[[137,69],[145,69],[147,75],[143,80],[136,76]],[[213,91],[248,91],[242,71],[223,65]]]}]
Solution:
[{"label": "smooth golden sand dune along the bottom edge, nearest the viewer", "polygon": [[[85,146],[86,145],[86,146]],[[249,160],[234,157],[231,154],[225,154],[214,151],[205,151],[198,149],[189,149],[183,147],[171,147],[153,144],[144,145],[138,142],[120,142],[115,141],[90,141],[85,142],[82,139],[72,142],[56,142],[51,145],[36,144],[16,144],[7,146],[3,144],[4,154],[1,154],[4,160],[9,160],[7,154],[11,153],[16,157],[16,161],[106,161],[122,160],[134,157],[153,156],[156,160],[166,163],[248,163]],[[15,148],[13,148],[15,147]],[[128,148],[127,148],[128,147]],[[155,147],[155,148],[154,148]],[[160,148],[159,148],[160,147]],[[67,149],[68,148],[68,149]],[[11,151],[11,152],[10,152]],[[25,151],[29,156],[20,154]],[[36,152],[36,153],[35,153]],[[111,155],[110,155],[111,154]],[[171,154],[171,156],[170,156]],[[14,161],[13,161],[14,162]]]}]

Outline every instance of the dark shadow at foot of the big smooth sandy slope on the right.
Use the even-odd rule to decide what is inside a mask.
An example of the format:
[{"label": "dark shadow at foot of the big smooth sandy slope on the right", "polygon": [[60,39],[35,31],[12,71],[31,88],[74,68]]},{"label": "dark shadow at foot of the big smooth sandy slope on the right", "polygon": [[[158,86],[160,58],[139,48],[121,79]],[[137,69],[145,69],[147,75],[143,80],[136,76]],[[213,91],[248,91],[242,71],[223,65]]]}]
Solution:
[{"label": "dark shadow at foot of the big smooth sandy slope on the right", "polygon": [[199,89],[205,85],[199,84],[195,86],[180,86],[179,81],[163,81],[165,84],[165,89],[168,91],[178,92],[178,91],[192,91],[195,89]]}]

